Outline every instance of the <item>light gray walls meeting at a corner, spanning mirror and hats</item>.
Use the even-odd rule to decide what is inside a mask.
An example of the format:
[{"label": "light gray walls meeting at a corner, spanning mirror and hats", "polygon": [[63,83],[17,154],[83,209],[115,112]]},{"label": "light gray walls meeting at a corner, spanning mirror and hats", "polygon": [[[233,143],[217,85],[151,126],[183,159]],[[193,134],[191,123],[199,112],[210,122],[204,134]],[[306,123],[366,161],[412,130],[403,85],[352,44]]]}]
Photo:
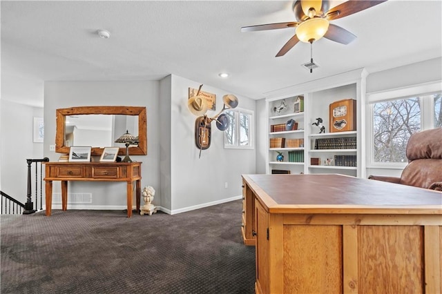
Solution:
[{"label": "light gray walls meeting at a corner, spanning mirror and hats", "polygon": [[[161,81],[56,82],[45,84],[45,150],[55,142],[55,110],[72,106],[146,106],[148,155],[131,156],[142,161],[142,186],[156,190],[154,204],[167,213],[200,208],[241,197],[241,174],[255,173],[256,151],[224,149],[223,133],[213,126],[211,147],[195,146],[196,117],[187,108],[188,88],[199,84],[175,75]],[[204,86],[217,95],[217,110],[228,91]],[[235,93],[232,93],[235,94]],[[63,99],[60,99],[63,97]],[[255,110],[255,101],[237,95],[240,108]],[[215,115],[208,112],[208,115]],[[45,151],[51,161],[59,154]],[[227,182],[228,188],[224,188]],[[92,193],[92,204],[70,208],[115,209],[126,206],[122,183],[70,182],[69,193]],[[58,182],[54,191],[60,191]],[[55,206],[57,208],[57,206]],[[69,207],[68,207],[69,209]]]}]

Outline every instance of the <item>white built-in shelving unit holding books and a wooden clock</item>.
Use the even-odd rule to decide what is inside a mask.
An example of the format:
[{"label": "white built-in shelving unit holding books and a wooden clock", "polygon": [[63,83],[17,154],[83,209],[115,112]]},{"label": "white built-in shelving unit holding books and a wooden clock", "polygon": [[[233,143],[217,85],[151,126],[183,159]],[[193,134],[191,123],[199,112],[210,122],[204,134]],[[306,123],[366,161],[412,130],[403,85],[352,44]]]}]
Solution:
[{"label": "white built-in shelving unit holding books and a wooden clock", "polygon": [[[361,158],[365,130],[360,128],[361,106],[365,104],[365,76],[365,70],[354,70],[302,84],[302,86],[272,92],[266,99],[269,130],[272,130],[272,125],[286,124],[289,119],[294,119],[298,123],[298,128],[268,133],[267,173],[272,173],[272,170],[278,170],[278,172],[287,170],[287,173],[292,174],[342,173],[365,177],[365,159]],[[299,109],[294,106],[298,97],[303,98],[303,111],[301,112],[295,112]],[[356,130],[330,133],[329,104],[342,99],[356,100]],[[283,105],[282,101],[287,107],[278,113],[280,106]],[[325,127],[325,133],[319,133],[320,126],[314,125],[319,117],[323,119],[322,126]],[[273,139],[273,146],[271,146],[271,138],[284,139],[286,143],[284,146],[274,146],[275,139]],[[330,138],[329,141],[338,138],[336,141],[345,141],[347,145],[344,145],[345,148],[330,146],[326,149],[323,145],[315,148],[317,142],[323,144],[328,138]],[[287,147],[287,141],[293,142],[293,139],[302,139],[302,146]],[[351,143],[348,143],[349,141]],[[301,158],[303,161],[291,162],[294,158],[293,153],[289,161],[289,152],[296,152],[296,159]],[[276,159],[279,153],[284,156],[283,161]],[[312,161],[316,161],[318,165],[311,164]]]}]

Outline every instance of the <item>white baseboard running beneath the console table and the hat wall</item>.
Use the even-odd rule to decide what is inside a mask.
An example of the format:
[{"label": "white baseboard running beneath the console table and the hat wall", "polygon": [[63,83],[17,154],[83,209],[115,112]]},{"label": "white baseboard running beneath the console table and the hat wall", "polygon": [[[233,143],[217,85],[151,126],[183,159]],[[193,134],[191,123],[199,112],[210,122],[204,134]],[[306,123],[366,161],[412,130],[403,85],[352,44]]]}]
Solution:
[{"label": "white baseboard running beneath the console table and the hat wall", "polygon": [[[167,208],[164,208],[162,206],[157,206],[157,210],[162,211],[163,213],[167,213],[168,215],[176,215],[178,213],[185,213],[186,211],[196,210],[208,206],[213,206],[217,204],[222,204],[226,202],[235,201],[238,199],[242,199],[242,195],[230,197],[226,199],[221,199],[213,202],[206,202],[204,204],[198,204],[194,206],[188,206],[180,209],[170,210]],[[52,209],[61,209],[61,204],[52,204]],[[84,205],[84,204],[70,204],[68,203],[68,210],[124,210],[127,209],[127,206],[125,205],[109,205],[109,206],[101,206],[101,205]],[[135,209],[135,206],[133,206],[133,209]]]}]

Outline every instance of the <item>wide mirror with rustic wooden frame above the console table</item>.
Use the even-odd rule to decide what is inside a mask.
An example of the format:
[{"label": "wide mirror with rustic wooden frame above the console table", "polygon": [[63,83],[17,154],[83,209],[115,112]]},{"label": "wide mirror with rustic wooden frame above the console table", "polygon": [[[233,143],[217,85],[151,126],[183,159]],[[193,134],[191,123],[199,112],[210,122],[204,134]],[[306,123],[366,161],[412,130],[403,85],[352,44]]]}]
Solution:
[{"label": "wide mirror with rustic wooden frame above the console table", "polygon": [[[70,146],[92,146],[91,155],[102,155],[104,147],[119,147],[118,155],[126,154],[124,144],[115,143],[129,131],[138,137],[138,144],[128,148],[129,155],[147,155],[146,108],[137,106],[81,106],[56,110],[55,152],[69,153]],[[101,139],[100,139],[101,138]]]}]

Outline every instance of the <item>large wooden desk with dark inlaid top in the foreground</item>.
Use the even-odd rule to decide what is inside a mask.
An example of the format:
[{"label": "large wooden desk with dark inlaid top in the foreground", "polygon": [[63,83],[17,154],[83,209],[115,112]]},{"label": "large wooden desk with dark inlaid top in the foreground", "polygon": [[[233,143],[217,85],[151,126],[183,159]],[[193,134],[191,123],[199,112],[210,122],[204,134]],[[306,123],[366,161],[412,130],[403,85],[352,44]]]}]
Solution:
[{"label": "large wooden desk with dark inlaid top in the foreground", "polygon": [[441,293],[441,192],[343,175],[242,177],[256,293]]}]

